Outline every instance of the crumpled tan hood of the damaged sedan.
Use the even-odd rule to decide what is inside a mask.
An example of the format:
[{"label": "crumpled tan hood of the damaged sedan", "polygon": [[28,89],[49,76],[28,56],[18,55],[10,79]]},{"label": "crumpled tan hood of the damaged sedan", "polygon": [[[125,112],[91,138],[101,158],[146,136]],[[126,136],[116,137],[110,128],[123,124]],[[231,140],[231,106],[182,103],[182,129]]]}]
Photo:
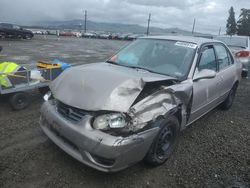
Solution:
[{"label": "crumpled tan hood of the damaged sedan", "polygon": [[171,79],[143,70],[92,63],[64,71],[50,89],[56,99],[76,108],[127,112],[146,82]]}]

